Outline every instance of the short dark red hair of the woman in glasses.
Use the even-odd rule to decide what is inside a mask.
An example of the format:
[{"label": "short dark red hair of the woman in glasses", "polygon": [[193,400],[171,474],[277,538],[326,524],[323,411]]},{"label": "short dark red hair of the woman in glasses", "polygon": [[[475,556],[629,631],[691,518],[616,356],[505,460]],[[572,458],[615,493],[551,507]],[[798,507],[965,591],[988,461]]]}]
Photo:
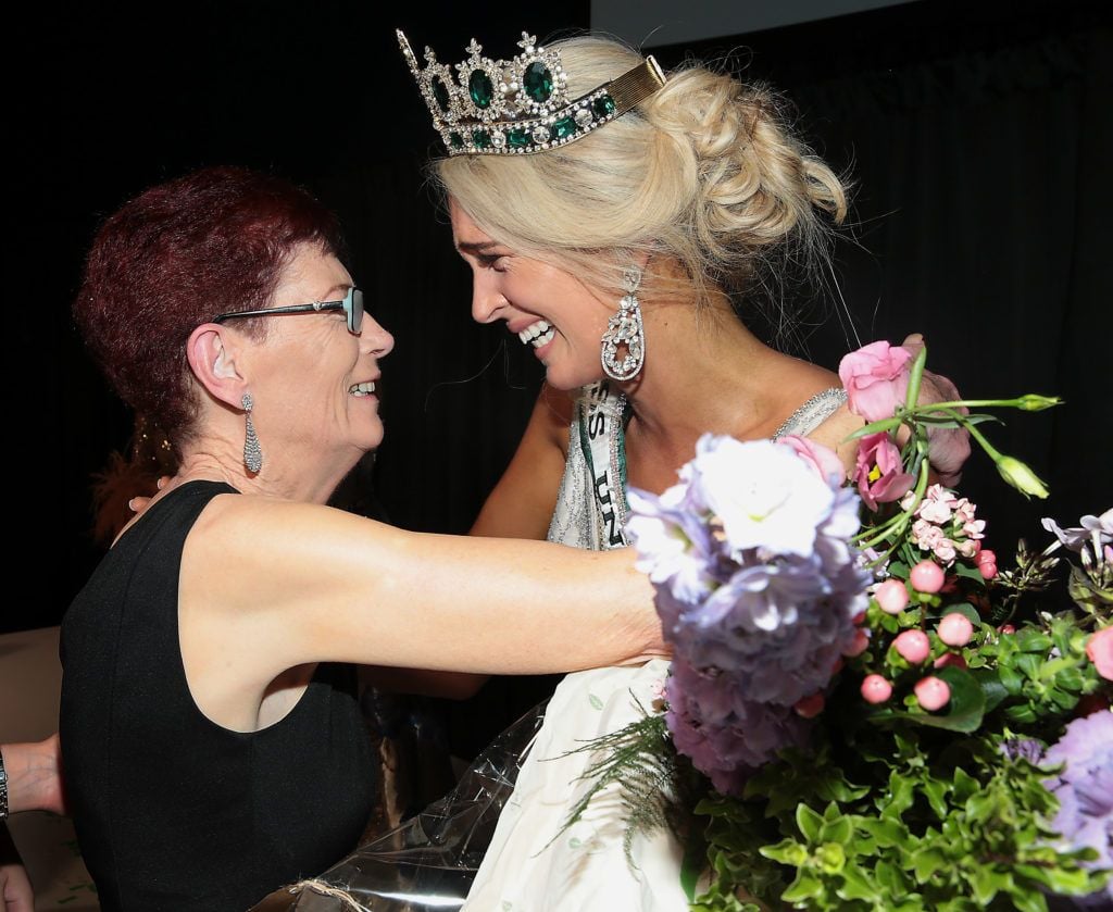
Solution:
[{"label": "short dark red hair of the woman in glasses", "polygon": [[[151,187],[104,224],[73,316],[120,398],[177,443],[195,415],[189,334],[217,314],[265,307],[306,243],[341,249],[336,218],[307,193],[206,168]],[[263,334],[265,321],[237,328]]]}]

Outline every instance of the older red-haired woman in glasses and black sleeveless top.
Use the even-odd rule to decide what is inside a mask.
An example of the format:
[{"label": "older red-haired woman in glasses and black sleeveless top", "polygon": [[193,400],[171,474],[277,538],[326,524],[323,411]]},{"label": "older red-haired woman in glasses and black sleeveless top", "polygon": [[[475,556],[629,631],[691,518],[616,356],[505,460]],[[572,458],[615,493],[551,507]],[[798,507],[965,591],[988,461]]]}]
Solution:
[{"label": "older red-haired woman in glasses and black sleeveless top", "polygon": [[661,646],[624,553],[323,506],[382,440],[394,344],[338,248],[309,196],[219,168],[142,194],[89,254],[77,322],[180,458],[62,625],[69,802],[106,910],[243,910],[354,846],[352,663],[546,673]]}]

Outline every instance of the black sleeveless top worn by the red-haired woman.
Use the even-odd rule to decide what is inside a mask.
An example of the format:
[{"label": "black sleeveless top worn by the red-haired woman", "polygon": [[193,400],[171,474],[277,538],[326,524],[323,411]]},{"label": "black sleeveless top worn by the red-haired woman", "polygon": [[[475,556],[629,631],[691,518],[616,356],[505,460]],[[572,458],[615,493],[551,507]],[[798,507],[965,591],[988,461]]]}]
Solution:
[{"label": "black sleeveless top worn by the red-haired woman", "polygon": [[62,622],[61,743],[78,842],[106,912],[244,912],[349,852],[373,801],[351,666],[321,665],[260,732],[206,718],[178,645],[178,571],[208,502],[196,481],[109,551]]}]

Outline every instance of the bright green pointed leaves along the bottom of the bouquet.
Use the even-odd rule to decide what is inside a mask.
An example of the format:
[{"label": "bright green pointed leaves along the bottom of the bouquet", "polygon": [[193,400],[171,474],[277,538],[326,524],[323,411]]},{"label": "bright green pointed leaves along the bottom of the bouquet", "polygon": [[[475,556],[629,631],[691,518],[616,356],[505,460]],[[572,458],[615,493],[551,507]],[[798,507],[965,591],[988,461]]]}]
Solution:
[{"label": "bright green pointed leaves along the bottom of the bouquet", "polygon": [[854,783],[829,754],[827,764],[816,756],[823,775],[806,794],[796,755],[766,767],[745,797],[701,802],[715,876],[692,909],[759,908],[742,889],[767,909],[1046,910],[1044,891],[1102,886],[1104,875],[1080,864],[1086,853],[1054,847],[1045,772],[1005,761],[994,737],[944,759],[940,734],[874,730]]}]

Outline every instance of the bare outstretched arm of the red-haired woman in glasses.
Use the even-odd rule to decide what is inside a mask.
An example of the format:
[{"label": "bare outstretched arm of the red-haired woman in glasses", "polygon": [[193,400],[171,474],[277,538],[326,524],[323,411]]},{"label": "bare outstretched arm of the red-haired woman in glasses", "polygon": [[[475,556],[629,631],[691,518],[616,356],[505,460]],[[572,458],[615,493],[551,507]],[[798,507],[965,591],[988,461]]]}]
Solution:
[{"label": "bare outstretched arm of the red-haired woman in glasses", "polygon": [[[535,674],[661,651],[627,552],[405,532],[338,510],[219,497],[186,541],[183,610],[205,664],[337,660]],[[186,615],[183,615],[185,620]],[[183,648],[186,651],[186,632]]]}]

